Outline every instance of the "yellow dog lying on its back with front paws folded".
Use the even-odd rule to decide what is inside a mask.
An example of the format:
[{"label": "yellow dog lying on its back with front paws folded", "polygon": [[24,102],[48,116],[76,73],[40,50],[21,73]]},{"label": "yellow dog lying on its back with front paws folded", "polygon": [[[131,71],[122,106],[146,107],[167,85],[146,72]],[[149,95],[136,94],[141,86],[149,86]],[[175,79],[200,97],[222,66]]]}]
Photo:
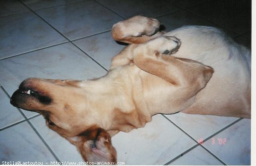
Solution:
[{"label": "yellow dog lying on its back with front paws folded", "polygon": [[132,43],[93,80],[26,79],[11,104],[41,113],[86,161],[116,162],[111,136],[157,113],[250,118],[250,51],[220,30],[184,26],[165,33],[159,21],[135,16],[112,28]]}]

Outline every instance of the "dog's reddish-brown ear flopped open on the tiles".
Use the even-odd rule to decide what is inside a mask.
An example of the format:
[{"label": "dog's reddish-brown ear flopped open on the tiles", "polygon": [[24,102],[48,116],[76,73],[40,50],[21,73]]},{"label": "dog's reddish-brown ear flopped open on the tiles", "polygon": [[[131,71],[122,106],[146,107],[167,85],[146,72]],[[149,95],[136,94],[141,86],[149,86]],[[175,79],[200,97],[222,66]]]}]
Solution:
[{"label": "dog's reddish-brown ear flopped open on the tiles", "polygon": [[68,141],[76,146],[85,161],[116,163],[116,149],[105,129],[87,129],[78,136],[68,138]]}]

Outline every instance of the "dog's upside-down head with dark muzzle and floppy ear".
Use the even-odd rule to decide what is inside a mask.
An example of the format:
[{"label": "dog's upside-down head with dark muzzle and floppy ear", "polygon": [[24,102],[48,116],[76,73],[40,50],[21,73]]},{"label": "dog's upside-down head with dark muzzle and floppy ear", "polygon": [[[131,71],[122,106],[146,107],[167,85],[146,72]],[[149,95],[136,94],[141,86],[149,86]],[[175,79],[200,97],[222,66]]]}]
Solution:
[{"label": "dog's upside-down head with dark muzzle and floppy ear", "polygon": [[[99,112],[90,110],[80,81],[26,79],[11,104],[44,116],[47,126],[73,143],[86,161],[116,161],[111,137],[101,128]],[[88,110],[89,109],[89,110]]]}]

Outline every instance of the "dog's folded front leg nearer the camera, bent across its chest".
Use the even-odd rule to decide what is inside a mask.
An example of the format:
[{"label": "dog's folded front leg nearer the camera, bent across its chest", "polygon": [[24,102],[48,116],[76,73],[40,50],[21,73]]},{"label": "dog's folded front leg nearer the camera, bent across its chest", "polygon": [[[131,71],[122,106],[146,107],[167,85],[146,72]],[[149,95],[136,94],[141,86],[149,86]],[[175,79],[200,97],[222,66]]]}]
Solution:
[{"label": "dog's folded front leg nearer the camera, bent across its chest", "polygon": [[176,37],[167,36],[139,44],[134,48],[134,64],[173,86],[187,88],[187,93],[194,96],[205,87],[213,69],[190,59],[171,56],[178,51],[180,44]]}]

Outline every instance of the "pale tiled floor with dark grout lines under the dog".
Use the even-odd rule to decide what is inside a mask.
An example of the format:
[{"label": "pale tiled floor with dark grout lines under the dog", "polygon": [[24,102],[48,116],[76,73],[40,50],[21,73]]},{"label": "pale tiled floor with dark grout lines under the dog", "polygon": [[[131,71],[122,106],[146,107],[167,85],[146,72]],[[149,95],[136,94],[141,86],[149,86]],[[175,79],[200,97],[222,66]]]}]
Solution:
[{"label": "pale tiled floor with dark grout lines under the dog", "polygon": [[[82,161],[74,146],[45,126],[41,115],[9,104],[23,79],[105,75],[111,58],[124,47],[111,39],[112,25],[137,14],[157,17],[166,30],[215,26],[250,48],[250,1],[240,1],[0,1],[0,163]],[[118,161],[125,164],[250,165],[250,122],[158,114],[144,128],[120,132],[112,140]]]}]

